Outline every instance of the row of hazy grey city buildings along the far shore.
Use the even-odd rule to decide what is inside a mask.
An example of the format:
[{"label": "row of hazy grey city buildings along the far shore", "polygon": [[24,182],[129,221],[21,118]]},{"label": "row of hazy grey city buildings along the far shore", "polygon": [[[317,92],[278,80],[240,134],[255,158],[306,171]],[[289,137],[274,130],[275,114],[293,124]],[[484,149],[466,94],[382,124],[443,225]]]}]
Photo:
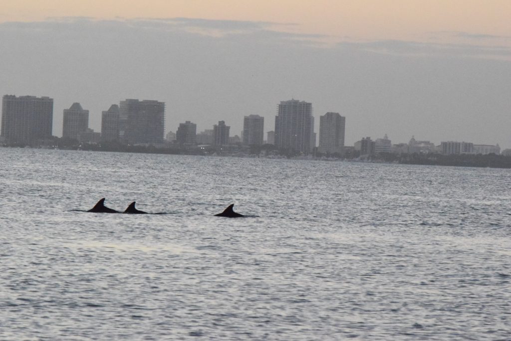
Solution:
[{"label": "row of hazy grey city buildings along the far shore", "polygon": [[[4,95],[3,96],[3,109],[2,109],[2,115],[0,116],[0,121],[3,119],[4,116],[6,116],[9,120],[9,125],[13,126],[15,122],[15,117],[13,116],[13,113],[18,111],[20,109],[16,109],[17,107],[23,108],[21,111],[27,111],[27,108],[33,108],[34,106],[30,106],[29,103],[32,102],[51,102],[52,104],[52,110],[53,110],[53,99],[50,99],[48,96],[42,96],[41,98],[37,98],[37,96],[33,95],[24,95],[24,96],[15,96],[15,95]],[[5,104],[4,104],[5,102]],[[35,103],[34,102],[34,103]],[[13,107],[14,103],[17,107]],[[27,103],[27,104],[24,104]],[[121,106],[121,108],[120,108]],[[71,107],[68,109],[64,109],[64,120],[62,123],[62,137],[72,138],[72,139],[78,139],[79,141],[96,141],[95,143],[100,141],[99,136],[101,136],[101,141],[114,141],[118,140],[121,142],[129,142],[129,143],[161,143],[164,140],[168,140],[169,134],[172,134],[176,137],[176,141],[180,144],[213,144],[213,145],[222,145],[222,144],[229,144],[233,143],[231,139],[233,138],[239,138],[240,142],[246,145],[261,145],[264,141],[264,116],[260,115],[248,115],[244,116],[243,118],[243,130],[241,131],[240,136],[230,136],[229,137],[229,130],[230,126],[225,125],[224,120],[218,121],[218,124],[215,124],[213,126],[213,129],[204,129],[202,132],[197,132],[197,124],[192,123],[190,120],[185,121],[184,123],[179,123],[178,127],[175,131],[167,129],[165,125],[165,102],[158,102],[155,100],[137,100],[137,99],[126,99],[124,101],[120,101],[120,106],[112,104],[110,108],[107,111],[102,111],[101,115],[101,130],[100,132],[95,132],[94,129],[91,129],[89,126],[89,111],[84,110],[80,103],[75,102]],[[296,107],[296,108],[295,108]],[[303,107],[302,109],[299,109],[298,107]],[[6,108],[6,109],[4,109]],[[11,109],[14,108],[14,109]],[[36,106],[37,108],[37,106]],[[273,126],[275,130],[282,130],[282,127],[289,126],[294,127],[292,129],[295,129],[296,132],[303,131],[304,129],[311,129],[311,135],[308,137],[310,140],[310,149],[307,150],[307,148],[304,148],[303,141],[301,142],[283,142],[283,141],[277,141],[270,144],[275,144],[276,147],[279,148],[291,148],[295,149],[297,148],[301,152],[310,153],[313,148],[318,147],[318,151],[320,153],[342,153],[344,146],[351,146],[357,148],[361,148],[366,154],[368,150],[371,150],[372,152],[390,152],[390,149],[392,147],[391,140],[388,138],[387,134],[384,134],[384,137],[379,137],[376,139],[376,141],[372,141],[373,147],[369,149],[367,146],[364,147],[364,141],[370,140],[370,137],[362,137],[360,140],[357,140],[354,142],[353,145],[345,144],[344,143],[344,136],[345,136],[345,117],[339,115],[339,113],[335,112],[327,112],[323,115],[320,115],[320,128],[319,133],[317,134],[319,137],[319,145],[315,145],[316,141],[316,132],[314,132],[314,116],[313,113],[313,107],[312,103],[308,103],[306,101],[299,101],[299,100],[288,100],[288,101],[281,101],[281,103],[277,106],[277,112],[275,115],[275,125]],[[299,109],[299,110],[298,110]],[[34,109],[31,109],[34,110]],[[4,114],[4,111],[6,114]],[[19,112],[21,112],[19,111]],[[37,111],[37,109],[36,109]],[[311,125],[308,126],[309,128],[305,127],[303,123],[299,123],[299,120],[303,120],[303,117],[301,117],[298,121],[296,120],[297,113],[300,113],[300,115],[309,115],[310,116],[310,123]],[[33,115],[34,113],[23,113],[24,115]],[[47,119],[50,122],[53,121],[53,116],[55,113],[48,112],[47,115],[50,115],[50,119]],[[283,114],[284,116],[282,116]],[[67,116],[66,116],[67,115]],[[289,116],[291,115],[291,116]],[[36,114],[37,116],[37,114]],[[33,117],[36,117],[33,116]],[[286,118],[289,116],[288,118]],[[27,116],[28,117],[28,116]],[[37,118],[37,117],[36,117]],[[27,120],[27,119],[25,119]],[[7,120],[6,120],[7,122]],[[9,128],[10,126],[4,127],[4,124],[2,124],[2,136],[9,138],[10,131],[13,131],[12,128]],[[136,128],[135,128],[136,127]],[[223,128],[225,127],[225,128]],[[273,128],[271,127],[271,128]],[[217,130],[220,128],[220,130]],[[48,130],[48,128],[45,128]],[[181,132],[180,132],[181,130]],[[217,131],[216,131],[217,130]],[[28,131],[28,130],[27,130]],[[67,133],[66,133],[67,132]],[[208,134],[208,132],[211,133],[211,141],[204,142],[203,139],[198,139],[197,136]],[[58,134],[55,134],[53,132],[53,136],[57,136]],[[248,133],[251,137],[249,139],[244,136],[244,134]],[[273,131],[268,131],[267,133],[272,133],[272,137],[274,138],[275,133]],[[19,132],[17,133],[19,134]],[[27,133],[25,133],[27,134]],[[83,134],[83,137],[81,137],[81,134]],[[286,134],[294,134],[289,133]],[[95,136],[98,137],[95,137]],[[248,136],[247,135],[247,136]],[[256,136],[254,138],[254,135]],[[46,134],[45,136],[48,136]],[[278,136],[278,135],[277,135]],[[291,135],[290,135],[291,136]],[[297,136],[297,135],[294,135]],[[285,139],[290,139],[288,136]],[[303,139],[303,137],[298,137],[298,139]],[[282,140],[282,137],[281,137]],[[14,140],[13,140],[14,141]],[[25,141],[29,141],[29,139],[25,139]],[[255,141],[255,142],[254,142]],[[277,145],[277,143],[279,145]],[[290,147],[291,144],[295,143],[296,145],[294,148]],[[458,152],[461,153],[473,153],[476,152],[483,152],[482,154],[487,154],[488,151],[490,153],[494,153],[496,150],[500,151],[499,143],[495,144],[478,144],[474,142],[459,142],[459,141],[453,141],[449,138],[442,139],[439,144],[437,145],[439,147],[439,150],[442,151],[443,154],[459,154],[457,152],[454,153],[445,153],[446,147],[445,145],[447,143],[461,143],[462,145],[471,145],[472,147],[468,148],[464,147],[460,150],[458,146]],[[399,144],[406,144],[403,142],[399,142]],[[412,150],[409,150],[408,147],[406,147],[405,152],[409,153],[416,153],[416,152],[431,152],[436,148],[434,143],[431,143],[428,141],[416,141],[414,136],[412,135],[410,141],[408,142],[409,145],[413,145],[414,147]],[[300,145],[301,147],[299,147]],[[476,147],[477,146],[477,147]],[[497,148],[497,149],[496,149]],[[507,149],[507,148],[504,148]],[[296,149],[295,149],[296,150]],[[449,151],[454,150],[452,147],[450,147]],[[484,153],[486,152],[486,153]],[[369,153],[371,154],[371,152]],[[477,153],[476,153],[477,154]]]}]

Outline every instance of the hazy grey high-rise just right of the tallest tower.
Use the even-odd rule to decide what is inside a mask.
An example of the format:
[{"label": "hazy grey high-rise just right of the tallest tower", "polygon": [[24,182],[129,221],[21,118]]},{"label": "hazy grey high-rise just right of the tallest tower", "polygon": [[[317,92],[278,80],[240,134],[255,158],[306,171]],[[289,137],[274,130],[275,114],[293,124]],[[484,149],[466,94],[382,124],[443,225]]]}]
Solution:
[{"label": "hazy grey high-rise just right of the tallest tower", "polygon": [[342,153],[346,118],[337,112],[327,112],[319,116],[319,152]]}]

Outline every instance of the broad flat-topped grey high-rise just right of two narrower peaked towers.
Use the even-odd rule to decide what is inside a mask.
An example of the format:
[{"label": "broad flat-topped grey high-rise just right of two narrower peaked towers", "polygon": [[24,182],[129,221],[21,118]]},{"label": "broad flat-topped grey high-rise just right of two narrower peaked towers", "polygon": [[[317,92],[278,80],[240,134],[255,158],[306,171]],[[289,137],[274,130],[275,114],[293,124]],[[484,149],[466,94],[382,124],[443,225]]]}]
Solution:
[{"label": "broad flat-topped grey high-rise just right of two narrower peaked towers", "polygon": [[165,103],[121,101],[119,138],[127,143],[161,143],[165,131]]}]

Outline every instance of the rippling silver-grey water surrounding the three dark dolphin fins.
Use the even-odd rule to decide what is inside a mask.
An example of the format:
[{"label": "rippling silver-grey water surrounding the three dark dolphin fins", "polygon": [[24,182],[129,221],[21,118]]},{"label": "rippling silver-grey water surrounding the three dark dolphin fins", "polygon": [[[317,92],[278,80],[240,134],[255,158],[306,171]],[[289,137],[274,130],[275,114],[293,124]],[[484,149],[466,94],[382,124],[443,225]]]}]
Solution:
[{"label": "rippling silver-grey water surrounding the three dark dolphin fins", "polygon": [[[510,339],[504,169],[0,149],[0,339]],[[106,205],[162,215],[98,214]],[[228,204],[258,215],[221,218]]]}]

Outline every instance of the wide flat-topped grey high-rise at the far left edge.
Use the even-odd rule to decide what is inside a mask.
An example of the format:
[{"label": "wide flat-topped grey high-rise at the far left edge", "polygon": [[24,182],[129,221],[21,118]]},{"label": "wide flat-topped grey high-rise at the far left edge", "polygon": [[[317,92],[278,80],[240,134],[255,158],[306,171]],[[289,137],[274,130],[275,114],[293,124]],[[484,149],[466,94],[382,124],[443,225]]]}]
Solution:
[{"label": "wide flat-topped grey high-rise at the far left edge", "polygon": [[2,98],[1,135],[8,143],[36,143],[50,138],[53,128],[53,99],[5,95]]}]

